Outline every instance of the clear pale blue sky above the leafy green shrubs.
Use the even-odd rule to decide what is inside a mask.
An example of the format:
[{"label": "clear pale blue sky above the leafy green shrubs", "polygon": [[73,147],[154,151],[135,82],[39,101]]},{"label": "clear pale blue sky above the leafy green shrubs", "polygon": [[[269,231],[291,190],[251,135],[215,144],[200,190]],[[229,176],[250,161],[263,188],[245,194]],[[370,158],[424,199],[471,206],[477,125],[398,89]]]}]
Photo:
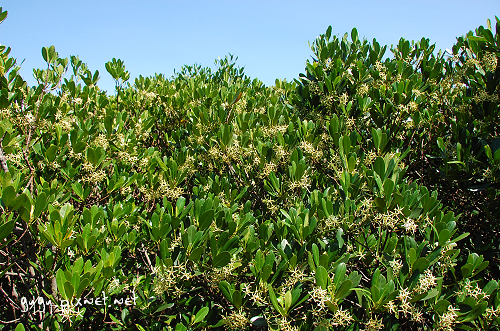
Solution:
[{"label": "clear pale blue sky above the leafy green shrubs", "polygon": [[[0,25],[0,44],[24,60],[21,74],[35,84],[33,68],[44,68],[41,48],[54,45],[61,57],[78,55],[98,85],[112,92],[104,64],[124,61],[131,83],[139,75],[170,77],[183,65],[214,67],[231,53],[245,73],[273,85],[304,72],[308,42],[329,25],[343,35],[356,27],[360,37],[382,45],[430,38],[437,49],[456,37],[492,24],[500,1],[159,1],[159,0],[2,0],[9,15]],[[390,53],[386,53],[389,54]],[[68,75],[69,76],[69,75]]]}]

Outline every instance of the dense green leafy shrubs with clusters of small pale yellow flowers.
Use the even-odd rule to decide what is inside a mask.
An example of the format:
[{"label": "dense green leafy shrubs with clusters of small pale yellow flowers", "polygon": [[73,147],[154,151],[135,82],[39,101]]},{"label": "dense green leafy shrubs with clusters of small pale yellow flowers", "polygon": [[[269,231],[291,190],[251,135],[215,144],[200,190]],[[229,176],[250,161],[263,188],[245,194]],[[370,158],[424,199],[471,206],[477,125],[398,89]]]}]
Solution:
[{"label": "dense green leafy shrubs with clusters of small pale yellow flowers", "polygon": [[498,327],[498,19],[437,55],[330,27],[272,87],[113,59],[109,95],[53,46],[29,87],[0,47],[3,330]]}]

